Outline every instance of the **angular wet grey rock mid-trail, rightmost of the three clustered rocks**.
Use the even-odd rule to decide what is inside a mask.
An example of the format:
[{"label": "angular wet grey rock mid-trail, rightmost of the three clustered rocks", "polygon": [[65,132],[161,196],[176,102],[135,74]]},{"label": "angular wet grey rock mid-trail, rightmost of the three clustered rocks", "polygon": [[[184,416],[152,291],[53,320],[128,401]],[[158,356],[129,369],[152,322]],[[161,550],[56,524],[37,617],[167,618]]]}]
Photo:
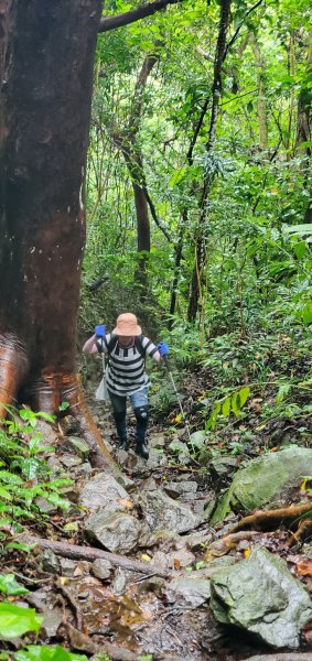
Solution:
[{"label": "angular wet grey rock mid-trail, rightmost of the three clustered rocks", "polygon": [[169,498],[160,489],[143,491],[138,501],[143,511],[144,522],[151,532],[165,529],[187,532],[200,523],[197,517],[189,508]]}]

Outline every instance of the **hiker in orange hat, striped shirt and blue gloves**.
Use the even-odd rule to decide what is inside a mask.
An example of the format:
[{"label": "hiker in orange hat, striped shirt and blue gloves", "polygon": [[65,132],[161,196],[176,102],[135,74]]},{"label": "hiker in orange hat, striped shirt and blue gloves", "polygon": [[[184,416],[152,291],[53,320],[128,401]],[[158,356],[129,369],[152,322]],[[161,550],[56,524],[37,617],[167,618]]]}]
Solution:
[{"label": "hiker in orange hat, striped shirt and blue gloves", "polygon": [[119,447],[129,449],[126,424],[126,404],[129,397],[136,419],[136,454],[149,457],[146,441],[148,426],[149,378],[146,372],[146,356],[158,362],[169,354],[164,343],[155,346],[142,335],[135,314],[126,312],[117,318],[116,328],[106,335],[106,325],[95,327],[93,335],[83,347],[84,354],[105,353],[108,355],[106,386],[112,405]]}]

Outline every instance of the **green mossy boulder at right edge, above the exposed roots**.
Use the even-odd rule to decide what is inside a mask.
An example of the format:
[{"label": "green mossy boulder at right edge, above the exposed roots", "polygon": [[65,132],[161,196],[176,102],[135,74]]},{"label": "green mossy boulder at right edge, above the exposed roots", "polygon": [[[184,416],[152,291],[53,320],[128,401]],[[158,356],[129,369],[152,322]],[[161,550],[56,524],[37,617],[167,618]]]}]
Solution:
[{"label": "green mossy boulder at right edge, above the exposed roots", "polygon": [[229,489],[220,498],[211,523],[222,521],[232,505],[252,511],[265,505],[277,506],[293,488],[299,489],[303,475],[312,475],[312,449],[289,447],[252,459],[238,470]]}]

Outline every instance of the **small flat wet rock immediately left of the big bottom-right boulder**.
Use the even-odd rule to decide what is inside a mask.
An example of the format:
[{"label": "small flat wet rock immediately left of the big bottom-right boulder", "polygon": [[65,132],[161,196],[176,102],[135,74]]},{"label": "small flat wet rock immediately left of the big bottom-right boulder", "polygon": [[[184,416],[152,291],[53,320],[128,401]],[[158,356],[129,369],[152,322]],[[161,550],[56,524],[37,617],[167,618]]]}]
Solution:
[{"label": "small flat wet rock immediately left of the big bottom-right boulder", "polygon": [[173,578],[164,589],[169,603],[198,608],[209,599],[211,585],[205,578]]}]

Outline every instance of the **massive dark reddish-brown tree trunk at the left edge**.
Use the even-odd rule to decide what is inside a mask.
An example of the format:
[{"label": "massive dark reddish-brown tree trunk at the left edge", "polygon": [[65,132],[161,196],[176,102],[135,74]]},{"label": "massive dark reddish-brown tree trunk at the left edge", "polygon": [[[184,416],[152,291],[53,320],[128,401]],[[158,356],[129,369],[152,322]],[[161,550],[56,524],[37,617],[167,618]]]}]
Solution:
[{"label": "massive dark reddish-brown tree trunk at the left edge", "polygon": [[[83,181],[101,0],[0,0],[0,402],[69,402],[101,444],[76,375]],[[2,407],[3,412],[3,407]]]}]

